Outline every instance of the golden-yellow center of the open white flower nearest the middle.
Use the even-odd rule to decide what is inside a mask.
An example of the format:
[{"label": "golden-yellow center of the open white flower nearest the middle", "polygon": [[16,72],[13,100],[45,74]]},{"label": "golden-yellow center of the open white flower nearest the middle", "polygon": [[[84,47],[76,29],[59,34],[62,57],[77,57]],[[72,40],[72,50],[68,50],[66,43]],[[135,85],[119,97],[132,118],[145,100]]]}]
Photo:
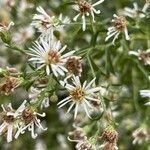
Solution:
[{"label": "golden-yellow center of the open white flower nearest the middle", "polygon": [[76,87],[72,91],[70,91],[70,95],[75,101],[82,101],[85,96],[85,92],[81,87]]}]

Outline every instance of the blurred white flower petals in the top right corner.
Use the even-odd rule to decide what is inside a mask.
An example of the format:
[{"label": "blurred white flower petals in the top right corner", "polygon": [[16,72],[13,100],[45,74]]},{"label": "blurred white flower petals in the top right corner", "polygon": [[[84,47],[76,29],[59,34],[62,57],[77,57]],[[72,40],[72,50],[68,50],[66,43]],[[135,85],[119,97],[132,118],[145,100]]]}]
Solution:
[{"label": "blurred white flower petals in the top right corner", "polygon": [[142,10],[139,9],[138,4],[136,2],[133,3],[133,9],[129,7],[125,7],[123,14],[125,16],[128,16],[130,18],[144,18],[146,13],[146,10],[148,9],[149,4],[145,3]]}]

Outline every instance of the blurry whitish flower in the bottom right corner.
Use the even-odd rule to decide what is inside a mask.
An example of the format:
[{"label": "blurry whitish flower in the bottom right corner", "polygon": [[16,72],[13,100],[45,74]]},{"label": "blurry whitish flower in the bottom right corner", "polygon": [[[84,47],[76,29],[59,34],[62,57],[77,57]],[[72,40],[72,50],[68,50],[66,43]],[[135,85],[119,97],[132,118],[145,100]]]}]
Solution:
[{"label": "blurry whitish flower in the bottom right corner", "polygon": [[142,144],[144,141],[150,140],[150,135],[145,128],[138,128],[132,134],[134,140],[133,144]]}]

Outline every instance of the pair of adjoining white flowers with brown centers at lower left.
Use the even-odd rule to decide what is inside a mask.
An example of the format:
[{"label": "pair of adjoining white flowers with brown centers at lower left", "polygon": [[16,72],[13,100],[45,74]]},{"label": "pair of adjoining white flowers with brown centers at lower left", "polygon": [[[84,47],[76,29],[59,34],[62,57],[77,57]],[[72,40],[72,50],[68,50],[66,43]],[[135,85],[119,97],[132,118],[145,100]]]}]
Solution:
[{"label": "pair of adjoining white flowers with brown centers at lower left", "polygon": [[41,121],[38,118],[38,116],[44,117],[45,113],[37,113],[34,108],[27,105],[26,100],[17,110],[12,108],[11,103],[7,107],[3,105],[1,107],[3,111],[0,114],[2,120],[0,135],[6,134],[7,142],[11,142],[13,138],[17,139],[26,129],[31,131],[32,138],[36,138],[35,126],[42,130],[46,130],[46,128],[42,127]]}]

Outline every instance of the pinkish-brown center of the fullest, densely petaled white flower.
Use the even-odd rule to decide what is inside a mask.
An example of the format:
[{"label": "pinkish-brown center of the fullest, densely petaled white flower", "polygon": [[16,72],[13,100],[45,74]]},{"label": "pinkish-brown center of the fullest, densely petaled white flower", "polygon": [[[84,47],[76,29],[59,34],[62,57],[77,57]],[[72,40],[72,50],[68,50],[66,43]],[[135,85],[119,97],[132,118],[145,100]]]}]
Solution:
[{"label": "pinkish-brown center of the fullest, densely petaled white flower", "polygon": [[49,50],[46,58],[47,64],[56,64],[60,62],[60,54],[55,50]]}]

